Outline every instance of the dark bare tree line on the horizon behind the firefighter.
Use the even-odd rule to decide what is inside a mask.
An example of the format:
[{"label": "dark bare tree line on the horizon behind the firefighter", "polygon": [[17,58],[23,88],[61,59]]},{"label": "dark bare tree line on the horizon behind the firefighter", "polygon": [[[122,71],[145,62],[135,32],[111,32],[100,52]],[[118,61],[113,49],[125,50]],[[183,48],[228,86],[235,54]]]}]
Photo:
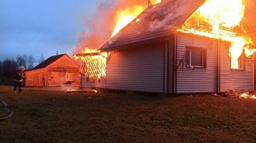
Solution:
[{"label": "dark bare tree line on the horizon behind the firefighter", "polygon": [[[45,61],[43,54],[39,58],[39,63]],[[20,66],[25,66],[26,70],[30,70],[34,67],[35,59],[33,55],[27,56],[17,55],[15,58],[5,58],[0,61],[0,80],[7,81],[14,77],[15,72]]]}]

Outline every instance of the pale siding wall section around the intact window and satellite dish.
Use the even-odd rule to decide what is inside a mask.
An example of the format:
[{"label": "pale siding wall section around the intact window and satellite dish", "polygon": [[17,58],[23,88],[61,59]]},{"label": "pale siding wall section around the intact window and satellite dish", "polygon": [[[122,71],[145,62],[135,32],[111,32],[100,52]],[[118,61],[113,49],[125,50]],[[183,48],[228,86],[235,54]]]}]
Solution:
[{"label": "pale siding wall section around the intact window and satellite dish", "polygon": [[[211,45],[212,43],[212,45]],[[211,39],[191,34],[177,35],[177,61],[182,59],[186,46],[206,49],[206,67],[190,68],[181,66],[177,68],[176,93],[208,93],[216,91],[216,44]]]}]

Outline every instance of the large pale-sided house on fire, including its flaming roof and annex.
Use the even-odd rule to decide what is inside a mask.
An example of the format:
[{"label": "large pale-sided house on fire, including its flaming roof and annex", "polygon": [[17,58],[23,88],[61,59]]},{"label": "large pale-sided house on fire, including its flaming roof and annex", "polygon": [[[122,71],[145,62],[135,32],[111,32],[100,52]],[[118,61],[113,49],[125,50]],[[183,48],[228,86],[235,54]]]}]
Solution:
[{"label": "large pale-sided house on fire, including its flaming roof and annex", "polygon": [[98,59],[74,55],[83,63],[81,86],[153,93],[253,91],[255,12],[254,1],[245,0],[150,6],[100,47]]}]

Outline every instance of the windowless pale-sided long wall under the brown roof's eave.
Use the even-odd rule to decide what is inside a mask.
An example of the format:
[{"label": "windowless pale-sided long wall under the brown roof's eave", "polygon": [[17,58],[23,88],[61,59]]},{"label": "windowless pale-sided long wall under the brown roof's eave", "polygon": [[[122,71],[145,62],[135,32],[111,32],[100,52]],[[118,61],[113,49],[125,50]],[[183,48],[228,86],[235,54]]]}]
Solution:
[{"label": "windowless pale-sided long wall under the brown roof's eave", "polygon": [[163,78],[163,44],[117,51],[107,61],[107,89],[163,93]]}]

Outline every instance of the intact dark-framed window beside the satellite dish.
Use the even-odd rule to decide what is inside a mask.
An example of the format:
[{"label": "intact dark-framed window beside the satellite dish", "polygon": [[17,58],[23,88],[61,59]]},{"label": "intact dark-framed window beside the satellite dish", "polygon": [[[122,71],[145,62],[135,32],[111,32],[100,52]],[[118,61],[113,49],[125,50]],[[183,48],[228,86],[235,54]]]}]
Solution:
[{"label": "intact dark-framed window beside the satellite dish", "polygon": [[206,67],[206,50],[203,48],[186,48],[187,66]]}]

